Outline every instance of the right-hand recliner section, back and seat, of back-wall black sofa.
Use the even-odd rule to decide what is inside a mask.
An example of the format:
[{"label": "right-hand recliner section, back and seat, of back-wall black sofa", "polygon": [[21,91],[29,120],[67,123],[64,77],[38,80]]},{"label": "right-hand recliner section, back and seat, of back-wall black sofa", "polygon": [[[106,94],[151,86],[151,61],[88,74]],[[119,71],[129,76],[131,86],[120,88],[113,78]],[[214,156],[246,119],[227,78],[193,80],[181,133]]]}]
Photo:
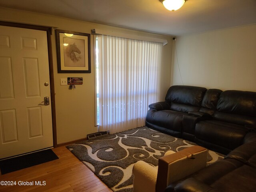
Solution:
[{"label": "right-hand recliner section, back and seat, of back-wall black sofa", "polygon": [[[256,93],[227,90],[220,94],[212,119],[195,127],[195,142],[228,154],[244,144],[247,133],[256,128]],[[244,140],[245,139],[245,140]]]}]

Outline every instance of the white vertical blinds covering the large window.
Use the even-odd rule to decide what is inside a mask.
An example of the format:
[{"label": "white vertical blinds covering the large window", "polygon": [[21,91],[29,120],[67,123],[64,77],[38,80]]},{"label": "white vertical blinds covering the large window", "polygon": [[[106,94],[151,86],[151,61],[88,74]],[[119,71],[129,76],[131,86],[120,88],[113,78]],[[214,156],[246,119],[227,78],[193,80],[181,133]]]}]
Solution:
[{"label": "white vertical blinds covering the large window", "polygon": [[144,126],[148,104],[156,102],[163,44],[97,38],[100,131]]}]

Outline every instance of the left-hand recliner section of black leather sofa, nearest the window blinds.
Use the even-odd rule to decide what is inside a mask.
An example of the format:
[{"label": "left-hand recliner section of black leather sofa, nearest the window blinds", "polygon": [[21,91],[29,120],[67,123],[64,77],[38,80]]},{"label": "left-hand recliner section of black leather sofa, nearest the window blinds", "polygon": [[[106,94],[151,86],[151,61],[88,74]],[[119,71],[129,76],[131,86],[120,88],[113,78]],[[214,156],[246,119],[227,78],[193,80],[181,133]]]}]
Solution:
[{"label": "left-hand recliner section of black leather sofa, nearest the window blinds", "polygon": [[207,89],[194,86],[171,86],[164,102],[150,104],[146,126],[182,137],[182,118],[189,111],[199,111]]}]

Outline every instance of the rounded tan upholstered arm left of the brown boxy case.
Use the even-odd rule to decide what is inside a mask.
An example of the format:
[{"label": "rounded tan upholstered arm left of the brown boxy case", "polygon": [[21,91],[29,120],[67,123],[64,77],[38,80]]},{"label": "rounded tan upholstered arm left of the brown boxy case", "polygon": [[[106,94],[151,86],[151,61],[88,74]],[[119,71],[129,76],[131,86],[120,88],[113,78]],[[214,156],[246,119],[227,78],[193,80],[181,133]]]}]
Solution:
[{"label": "rounded tan upholstered arm left of the brown boxy case", "polygon": [[157,168],[144,161],[134,164],[133,170],[133,190],[134,192],[155,192]]}]

